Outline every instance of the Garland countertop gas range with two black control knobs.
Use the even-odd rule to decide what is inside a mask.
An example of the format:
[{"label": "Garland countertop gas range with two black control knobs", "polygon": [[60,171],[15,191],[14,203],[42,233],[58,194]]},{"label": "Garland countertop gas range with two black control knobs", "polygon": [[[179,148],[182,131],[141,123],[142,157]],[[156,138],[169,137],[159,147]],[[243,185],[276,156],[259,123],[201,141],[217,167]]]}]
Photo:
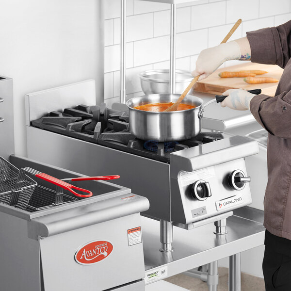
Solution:
[{"label": "Garland countertop gas range with two black control knobs", "polygon": [[96,105],[92,82],[26,97],[28,157],[90,176],[116,171],[118,184],[148,198],[144,215],[161,220],[162,251],[173,250],[173,224],[215,222],[215,232],[226,233],[226,217],[252,202],[244,158],[258,144],[221,132],[171,143],[136,139],[126,110]]}]

